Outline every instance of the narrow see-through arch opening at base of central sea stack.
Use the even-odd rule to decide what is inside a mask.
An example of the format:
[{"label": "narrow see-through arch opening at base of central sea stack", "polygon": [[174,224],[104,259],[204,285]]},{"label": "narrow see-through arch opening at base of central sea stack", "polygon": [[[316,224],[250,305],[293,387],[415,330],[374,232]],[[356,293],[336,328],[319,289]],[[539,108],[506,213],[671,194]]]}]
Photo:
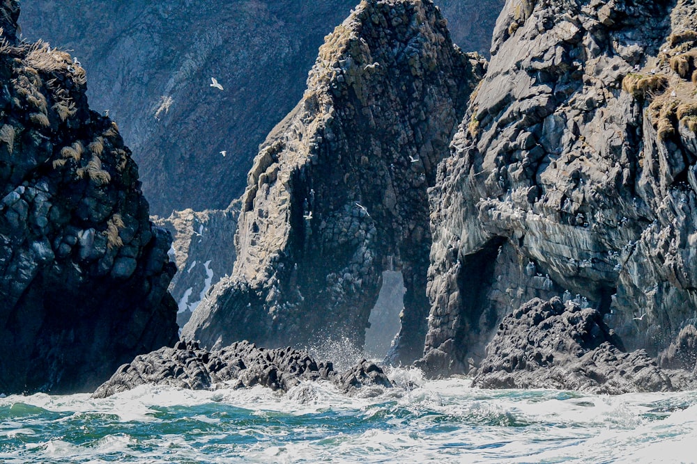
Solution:
[{"label": "narrow see-through arch opening at base of central sea stack", "polygon": [[384,271],[378,301],[370,311],[369,327],[365,330],[367,358],[383,360],[390,351],[392,340],[401,328],[399,314],[404,309],[405,293],[401,271]]}]

